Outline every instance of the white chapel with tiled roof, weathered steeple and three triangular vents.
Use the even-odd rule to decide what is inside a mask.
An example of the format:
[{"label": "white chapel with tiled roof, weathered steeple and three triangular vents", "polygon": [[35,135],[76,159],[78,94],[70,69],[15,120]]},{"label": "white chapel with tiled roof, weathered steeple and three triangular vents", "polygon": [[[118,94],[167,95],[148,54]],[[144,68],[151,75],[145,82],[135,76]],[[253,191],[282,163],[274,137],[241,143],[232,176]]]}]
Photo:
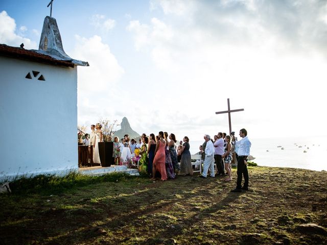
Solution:
[{"label": "white chapel with tiled roof, weathered steeple and three triangular vents", "polygon": [[50,16],[39,50],[0,44],[0,181],[78,169],[77,66]]}]

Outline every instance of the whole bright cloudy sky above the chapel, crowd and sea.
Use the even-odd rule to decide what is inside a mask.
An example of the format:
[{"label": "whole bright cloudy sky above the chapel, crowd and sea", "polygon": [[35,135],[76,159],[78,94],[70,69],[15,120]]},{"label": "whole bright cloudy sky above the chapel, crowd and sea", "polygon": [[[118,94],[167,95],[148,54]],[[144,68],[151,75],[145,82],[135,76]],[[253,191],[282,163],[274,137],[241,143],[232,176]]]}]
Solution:
[{"label": "whole bright cloudy sky above the chapel, crowd and sea", "polygon": [[[38,49],[50,0],[0,1],[0,43]],[[325,131],[327,1],[54,0],[78,67],[78,125],[126,116],[178,139],[245,128],[252,138]],[[116,127],[117,130],[120,127]]]}]

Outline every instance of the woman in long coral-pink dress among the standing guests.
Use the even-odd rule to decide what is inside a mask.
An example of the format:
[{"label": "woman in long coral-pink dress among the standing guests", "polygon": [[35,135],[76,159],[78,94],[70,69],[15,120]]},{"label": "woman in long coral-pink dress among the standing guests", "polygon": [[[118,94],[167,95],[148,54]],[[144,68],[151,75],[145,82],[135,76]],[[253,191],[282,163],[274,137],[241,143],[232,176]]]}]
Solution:
[{"label": "woman in long coral-pink dress among the standing guests", "polygon": [[154,151],[152,180],[155,180],[156,171],[159,171],[161,175],[161,181],[167,180],[165,147],[166,147],[166,140],[164,139],[164,132],[160,131]]}]

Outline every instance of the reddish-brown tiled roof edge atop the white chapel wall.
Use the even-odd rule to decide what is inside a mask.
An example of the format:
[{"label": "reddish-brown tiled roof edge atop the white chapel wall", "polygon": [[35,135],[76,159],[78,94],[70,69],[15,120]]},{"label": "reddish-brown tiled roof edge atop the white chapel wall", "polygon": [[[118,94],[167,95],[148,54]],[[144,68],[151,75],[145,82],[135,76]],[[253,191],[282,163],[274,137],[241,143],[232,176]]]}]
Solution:
[{"label": "reddish-brown tiled roof edge atop the white chapel wall", "polygon": [[75,65],[69,61],[57,60],[49,55],[39,54],[35,50],[25,50],[25,48],[8,46],[6,44],[0,44],[0,55],[58,66],[74,67]]}]

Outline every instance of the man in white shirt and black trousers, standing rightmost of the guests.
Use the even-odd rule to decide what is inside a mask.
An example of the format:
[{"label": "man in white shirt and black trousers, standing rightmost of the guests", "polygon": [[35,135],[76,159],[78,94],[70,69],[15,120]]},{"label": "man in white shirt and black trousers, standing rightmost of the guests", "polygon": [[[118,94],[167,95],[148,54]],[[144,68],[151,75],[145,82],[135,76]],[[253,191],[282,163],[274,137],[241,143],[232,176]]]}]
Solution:
[{"label": "man in white shirt and black trousers, standing rightmost of the guests", "polygon": [[[250,155],[251,142],[247,137],[247,131],[245,129],[240,130],[241,140],[237,142],[238,146],[238,163],[237,163],[237,184],[236,188],[231,192],[242,192],[249,189],[249,173],[247,171],[246,161],[248,155]],[[244,176],[244,184],[242,187],[242,175]]]}]

